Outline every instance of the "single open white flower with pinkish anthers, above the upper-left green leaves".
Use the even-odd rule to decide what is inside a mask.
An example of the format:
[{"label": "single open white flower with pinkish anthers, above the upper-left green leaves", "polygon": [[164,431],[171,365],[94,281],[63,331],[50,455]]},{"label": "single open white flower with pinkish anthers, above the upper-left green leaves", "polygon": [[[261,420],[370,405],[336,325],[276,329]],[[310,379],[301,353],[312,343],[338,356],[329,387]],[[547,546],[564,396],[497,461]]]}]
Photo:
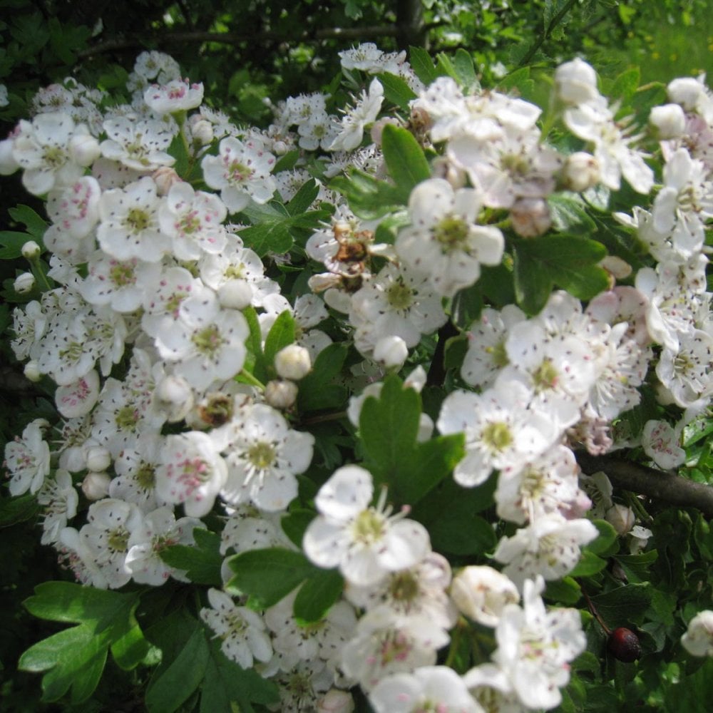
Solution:
[{"label": "single open white flower with pinkish anthers, above the upper-left green leaves", "polygon": [[220,190],[220,198],[232,213],[247,207],[250,200],[266,203],[275,193],[275,179],[270,173],[275,156],[265,150],[257,138],[242,143],[224,138],[217,156],[207,155],[200,163],[203,178],[210,188]]}]

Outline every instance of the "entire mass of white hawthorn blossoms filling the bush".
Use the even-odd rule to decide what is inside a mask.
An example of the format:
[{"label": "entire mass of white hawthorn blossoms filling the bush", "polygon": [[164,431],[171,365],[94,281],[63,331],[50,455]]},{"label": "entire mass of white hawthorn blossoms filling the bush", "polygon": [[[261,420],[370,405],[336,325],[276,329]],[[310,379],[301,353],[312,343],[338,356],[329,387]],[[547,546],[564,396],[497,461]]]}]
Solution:
[{"label": "entire mass of white hawthorn blossoms filling the bush", "polygon": [[[58,416],[7,446],[9,491],[36,496],[42,542],[96,588],[189,582],[162,554],[220,533],[224,588],[202,590],[200,618],[277,684],[283,710],[347,710],[356,685],[377,711],[551,709],[586,637],[576,610],[545,606],[545,581],[578,565],[596,518],[632,550],[650,535],[577,451],[641,446],[679,466],[713,396],[713,96],[674,81],[641,126],[568,62],[548,123],[569,140],[555,145],[523,98],[424,83],[373,45],[342,67],[364,89],[341,116],[330,96],[290,97],[267,130],[205,106],[155,52],[130,105],[76,83],[39,93],[0,143],[0,173],[21,170],[46,201],[11,347],[53,384]],[[615,215],[631,262],[563,225],[607,212],[623,181],[642,204]],[[547,246],[589,252],[558,263]],[[528,277],[527,255],[553,272]],[[402,369],[406,401],[427,380],[438,394],[414,406],[413,433],[374,434],[366,404]],[[656,418],[622,435],[645,389]],[[438,482],[404,502],[369,461],[396,456],[391,438],[434,469],[461,438],[455,487],[493,485],[501,536],[486,528],[473,564],[453,573],[444,555],[463,553],[436,546]],[[300,517],[297,534],[283,527]],[[344,586],[307,624],[299,589],[256,610],[232,581],[251,550],[299,550]],[[492,630],[490,650],[470,670],[441,665],[471,622]],[[709,623],[691,622],[687,650],[709,652]]]}]

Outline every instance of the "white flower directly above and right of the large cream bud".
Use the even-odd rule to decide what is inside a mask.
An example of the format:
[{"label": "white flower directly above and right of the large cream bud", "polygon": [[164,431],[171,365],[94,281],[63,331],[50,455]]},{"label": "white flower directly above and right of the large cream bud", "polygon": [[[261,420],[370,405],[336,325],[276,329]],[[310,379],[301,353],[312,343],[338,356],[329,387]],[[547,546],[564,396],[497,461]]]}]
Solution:
[{"label": "white flower directly above and right of the large cream bud", "polygon": [[575,568],[580,547],[594,540],[599,531],[590,520],[565,520],[562,515],[540,515],[526,528],[498,543],[493,557],[506,564],[503,574],[518,587],[527,578],[542,575],[545,580],[562,578]]}]

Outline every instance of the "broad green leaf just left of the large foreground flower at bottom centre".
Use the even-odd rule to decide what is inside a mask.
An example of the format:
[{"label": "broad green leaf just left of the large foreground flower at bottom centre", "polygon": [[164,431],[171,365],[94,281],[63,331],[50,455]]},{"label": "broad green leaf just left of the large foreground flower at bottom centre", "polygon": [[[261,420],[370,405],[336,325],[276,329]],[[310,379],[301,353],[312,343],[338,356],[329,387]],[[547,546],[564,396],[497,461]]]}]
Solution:
[{"label": "broad green leaf just left of the large foreground flower at bottom centre", "polygon": [[302,553],[277,547],[243,552],[228,563],[235,572],[228,586],[249,595],[260,609],[277,604],[317,571]]}]

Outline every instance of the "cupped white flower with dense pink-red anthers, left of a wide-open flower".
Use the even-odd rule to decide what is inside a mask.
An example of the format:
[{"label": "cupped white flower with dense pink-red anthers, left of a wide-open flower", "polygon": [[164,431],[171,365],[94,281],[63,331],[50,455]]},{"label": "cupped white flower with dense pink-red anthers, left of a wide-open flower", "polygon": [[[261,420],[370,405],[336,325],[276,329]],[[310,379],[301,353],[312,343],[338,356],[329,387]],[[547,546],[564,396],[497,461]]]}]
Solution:
[{"label": "cupped white flower with dense pink-red anthers, left of a wide-open flower", "polygon": [[207,515],[225,484],[227,466],[212,439],[200,431],[167,436],[156,469],[156,493],[168,503],[183,503],[193,518]]}]

